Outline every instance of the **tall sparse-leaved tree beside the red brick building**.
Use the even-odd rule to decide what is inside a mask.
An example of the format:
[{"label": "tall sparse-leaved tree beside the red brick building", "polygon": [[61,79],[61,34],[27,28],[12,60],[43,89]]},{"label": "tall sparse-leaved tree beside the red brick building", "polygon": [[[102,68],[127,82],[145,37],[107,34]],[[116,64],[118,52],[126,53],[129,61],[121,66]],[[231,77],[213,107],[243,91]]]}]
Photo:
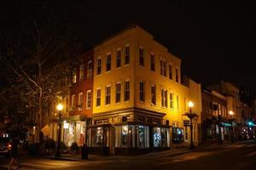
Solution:
[{"label": "tall sparse-leaved tree beside the red brick building", "polygon": [[[79,23],[86,19],[79,14],[78,2],[18,2],[15,14],[0,15],[0,62],[5,65],[1,95],[12,96],[0,110],[9,119],[32,116],[38,133],[49,104],[67,93],[67,76],[79,53]],[[20,103],[12,105],[12,100]]]}]

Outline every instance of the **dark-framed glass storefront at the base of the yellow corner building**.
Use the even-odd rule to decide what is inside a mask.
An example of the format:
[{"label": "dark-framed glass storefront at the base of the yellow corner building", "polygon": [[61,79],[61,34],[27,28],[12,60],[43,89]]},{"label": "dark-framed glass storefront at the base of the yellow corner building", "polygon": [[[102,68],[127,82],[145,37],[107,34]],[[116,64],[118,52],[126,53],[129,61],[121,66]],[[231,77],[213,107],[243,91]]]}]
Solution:
[{"label": "dark-framed glass storefront at the base of the yellow corner building", "polygon": [[[91,152],[103,155],[139,154],[170,148],[170,127],[140,122],[88,127]],[[108,151],[109,150],[109,151]]]}]

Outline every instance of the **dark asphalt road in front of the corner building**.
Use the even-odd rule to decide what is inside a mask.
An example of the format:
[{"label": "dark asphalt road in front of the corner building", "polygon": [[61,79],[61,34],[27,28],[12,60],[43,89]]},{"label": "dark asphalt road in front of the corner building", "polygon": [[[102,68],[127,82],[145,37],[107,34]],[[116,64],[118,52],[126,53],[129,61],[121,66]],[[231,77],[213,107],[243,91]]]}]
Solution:
[{"label": "dark asphalt road in front of the corner building", "polygon": [[[0,169],[8,167],[7,163],[4,162],[0,161]],[[203,147],[200,150],[177,156],[173,156],[172,150],[168,150],[142,156],[101,156],[89,161],[59,161],[23,157],[20,159],[20,164],[22,165],[20,169],[254,170],[256,169],[256,143],[250,141]]]}]

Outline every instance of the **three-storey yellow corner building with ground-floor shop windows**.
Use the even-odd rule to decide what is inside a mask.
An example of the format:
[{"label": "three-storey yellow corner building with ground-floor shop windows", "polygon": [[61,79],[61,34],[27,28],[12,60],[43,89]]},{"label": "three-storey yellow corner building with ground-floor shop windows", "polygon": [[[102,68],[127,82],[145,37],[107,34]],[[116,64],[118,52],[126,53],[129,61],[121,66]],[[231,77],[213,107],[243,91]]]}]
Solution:
[{"label": "three-storey yellow corner building with ground-floor shop windows", "polygon": [[94,48],[91,151],[122,154],[189,144],[183,116],[195,103],[194,142],[201,135],[201,85],[181,83],[181,59],[139,26]]}]

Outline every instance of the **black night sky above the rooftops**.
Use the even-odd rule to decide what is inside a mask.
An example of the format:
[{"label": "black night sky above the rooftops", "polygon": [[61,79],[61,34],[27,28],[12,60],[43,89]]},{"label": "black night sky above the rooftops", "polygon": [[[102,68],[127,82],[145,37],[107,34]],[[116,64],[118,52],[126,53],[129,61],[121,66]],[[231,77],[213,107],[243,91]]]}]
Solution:
[{"label": "black night sky above the rooftops", "polygon": [[[75,11],[76,15],[84,16],[79,24],[73,25],[79,32],[78,42],[83,48],[135,23],[182,59],[183,75],[203,85],[225,80],[256,92],[256,10],[253,4],[178,0],[154,3],[108,1],[104,4],[42,1],[42,9],[42,3],[22,2],[1,5],[4,8],[0,19],[15,22],[16,15],[27,13],[44,26],[40,17],[42,13],[48,14],[47,8],[51,8],[49,15],[54,16],[64,13],[68,16],[70,11]],[[26,20],[26,17],[19,20]]]}]

